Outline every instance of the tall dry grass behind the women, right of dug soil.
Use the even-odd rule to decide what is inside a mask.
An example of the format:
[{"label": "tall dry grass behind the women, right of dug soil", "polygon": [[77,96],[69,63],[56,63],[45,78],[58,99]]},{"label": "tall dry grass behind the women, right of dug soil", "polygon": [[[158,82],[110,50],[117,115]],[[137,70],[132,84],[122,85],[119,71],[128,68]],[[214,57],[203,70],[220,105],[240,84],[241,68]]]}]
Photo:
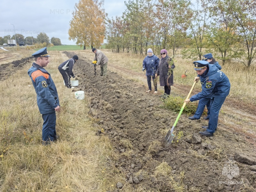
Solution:
[{"label": "tall dry grass behind the women, right of dug soil", "polygon": [[[120,73],[123,77],[129,79],[136,79],[141,83],[146,83],[145,72],[142,72],[142,61],[145,55],[132,54],[132,53],[112,53],[110,50],[102,50],[108,57],[108,68],[114,72]],[[89,55],[89,59],[93,60],[94,54],[91,50],[80,51],[84,55]],[[192,86],[196,72],[193,68],[193,61],[182,59],[182,55],[174,57],[174,84],[181,86]],[[220,62],[221,64],[221,62]],[[129,74],[126,71],[132,70]],[[187,77],[182,79],[181,75],[187,71]],[[228,97],[235,98],[246,103],[256,105],[256,66],[253,64],[249,69],[244,67],[243,64],[238,62],[226,63],[222,65],[223,71],[229,78],[231,90]],[[147,86],[147,84],[146,84]],[[195,86],[196,89],[201,89],[201,84]],[[175,87],[172,87],[175,91]]]}]

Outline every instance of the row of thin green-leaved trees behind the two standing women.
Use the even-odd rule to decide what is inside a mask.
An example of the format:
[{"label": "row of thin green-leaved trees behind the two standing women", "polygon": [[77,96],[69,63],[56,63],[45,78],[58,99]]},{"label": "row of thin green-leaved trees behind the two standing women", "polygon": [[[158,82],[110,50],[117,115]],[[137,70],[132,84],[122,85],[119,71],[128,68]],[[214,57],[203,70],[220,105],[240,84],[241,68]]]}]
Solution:
[{"label": "row of thin green-leaved trees behind the two standing women", "polygon": [[107,48],[113,52],[154,54],[178,49],[201,60],[207,52],[222,64],[250,66],[256,51],[256,3],[253,0],[129,0],[122,17],[107,19]]}]

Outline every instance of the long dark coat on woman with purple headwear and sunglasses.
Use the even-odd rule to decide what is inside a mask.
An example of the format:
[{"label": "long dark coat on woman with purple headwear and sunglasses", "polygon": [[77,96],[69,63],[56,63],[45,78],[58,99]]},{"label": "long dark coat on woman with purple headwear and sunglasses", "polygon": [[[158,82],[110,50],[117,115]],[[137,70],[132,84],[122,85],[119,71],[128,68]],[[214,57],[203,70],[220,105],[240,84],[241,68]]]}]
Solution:
[{"label": "long dark coat on woman with purple headwear and sunglasses", "polygon": [[[169,65],[171,68],[169,68]],[[166,55],[165,58],[161,57],[159,65],[157,67],[156,74],[159,75],[160,86],[173,85],[173,72],[172,69],[175,68],[172,58]]]}]

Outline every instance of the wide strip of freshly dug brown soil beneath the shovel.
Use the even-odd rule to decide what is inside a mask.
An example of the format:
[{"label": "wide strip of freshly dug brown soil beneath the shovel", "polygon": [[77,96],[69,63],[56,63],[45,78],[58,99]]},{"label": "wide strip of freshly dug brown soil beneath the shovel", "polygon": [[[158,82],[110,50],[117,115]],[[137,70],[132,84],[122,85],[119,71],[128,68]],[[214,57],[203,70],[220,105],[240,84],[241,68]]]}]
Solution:
[{"label": "wide strip of freshly dug brown soil beneath the shovel", "polygon": [[[120,70],[109,64],[111,68]],[[246,132],[250,127],[255,130],[253,113],[226,104],[218,130],[210,138],[198,134],[206,120],[190,121],[183,114],[175,134],[184,136],[165,147],[164,137],[177,114],[161,108],[159,95],[148,94],[147,87],[111,71],[107,77],[95,76],[90,61],[80,56],[75,70],[80,85],[74,91],[83,90],[90,97],[89,113],[99,120],[95,126],[104,129],[120,156],[115,165],[124,174],[124,187],[132,185],[134,191],[255,191],[256,172],[249,165],[256,164],[255,133]],[[172,91],[186,95],[186,89],[179,92],[175,86]],[[114,176],[113,170],[108,171]]]}]

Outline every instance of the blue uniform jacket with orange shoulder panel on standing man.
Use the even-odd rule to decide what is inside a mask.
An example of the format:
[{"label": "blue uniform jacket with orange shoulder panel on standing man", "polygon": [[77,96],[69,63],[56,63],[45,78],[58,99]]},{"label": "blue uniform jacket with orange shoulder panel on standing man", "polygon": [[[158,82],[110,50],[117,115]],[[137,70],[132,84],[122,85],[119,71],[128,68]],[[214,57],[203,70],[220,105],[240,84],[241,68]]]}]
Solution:
[{"label": "blue uniform jacket with orange shoulder panel on standing man", "polygon": [[51,75],[41,66],[33,63],[32,67],[28,69],[28,75],[36,90],[37,105],[41,114],[52,113],[54,108],[60,106],[60,101],[52,81]]}]

